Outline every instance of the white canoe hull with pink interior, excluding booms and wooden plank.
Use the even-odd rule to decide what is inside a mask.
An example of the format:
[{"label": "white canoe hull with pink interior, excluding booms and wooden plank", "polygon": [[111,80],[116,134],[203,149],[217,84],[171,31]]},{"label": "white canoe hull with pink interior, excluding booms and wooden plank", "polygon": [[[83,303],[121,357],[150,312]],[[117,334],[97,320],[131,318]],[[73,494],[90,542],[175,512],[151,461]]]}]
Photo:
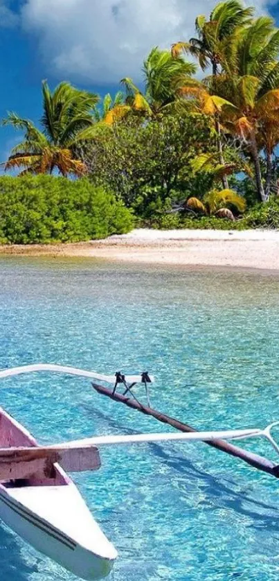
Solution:
[{"label": "white canoe hull with pink interior, excluding booms and wooden plank", "polygon": [[[1,449],[37,445],[21,424],[0,409]],[[105,577],[116,560],[116,549],[59,464],[53,465],[48,477],[35,471],[26,478],[2,480],[0,517],[35,549],[83,579]]]}]

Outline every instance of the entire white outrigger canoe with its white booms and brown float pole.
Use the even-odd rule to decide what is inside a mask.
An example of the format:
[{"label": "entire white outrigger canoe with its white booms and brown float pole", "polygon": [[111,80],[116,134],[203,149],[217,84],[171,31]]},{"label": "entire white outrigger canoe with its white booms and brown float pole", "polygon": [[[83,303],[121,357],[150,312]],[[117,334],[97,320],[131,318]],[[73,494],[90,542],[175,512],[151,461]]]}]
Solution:
[{"label": "entire white outrigger canoe with its white booms and brown float pole", "polygon": [[[264,437],[279,453],[279,446],[271,435],[271,428],[279,422],[273,422],[263,430],[197,432],[195,428],[151,408],[148,386],[154,379],[147,373],[101,375],[75,367],[37,364],[1,370],[0,379],[48,371],[111,383],[114,385],[112,390],[96,383],[92,385],[99,394],[177,429],[175,433],[103,435],[39,446],[24,426],[0,408],[0,518],[41,553],[80,578],[90,581],[105,577],[117,557],[113,544],[105,537],[73,480],[66,474],[66,471],[99,469],[98,446],[202,441],[279,478],[276,463],[226,441]],[[141,404],[132,391],[136,383],[145,385],[147,406]],[[117,391],[119,385],[124,388],[123,394]]]}]

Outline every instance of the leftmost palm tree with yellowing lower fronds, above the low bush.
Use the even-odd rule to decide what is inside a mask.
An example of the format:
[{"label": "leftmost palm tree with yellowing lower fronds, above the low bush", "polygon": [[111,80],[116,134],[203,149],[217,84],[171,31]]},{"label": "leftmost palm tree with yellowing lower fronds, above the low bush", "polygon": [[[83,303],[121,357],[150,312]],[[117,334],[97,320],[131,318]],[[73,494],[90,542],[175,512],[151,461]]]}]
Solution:
[{"label": "leftmost palm tree with yellowing lower fronds, above the low bush", "polygon": [[56,168],[62,175],[83,175],[87,168],[80,159],[75,159],[74,148],[93,132],[93,110],[98,96],[75,89],[69,83],[60,83],[51,92],[46,81],[42,83],[42,96],[42,130],[15,113],[9,113],[3,120],[3,125],[24,131],[23,141],[12,149],[4,164],[6,170],[24,168],[21,174],[53,173]]}]

